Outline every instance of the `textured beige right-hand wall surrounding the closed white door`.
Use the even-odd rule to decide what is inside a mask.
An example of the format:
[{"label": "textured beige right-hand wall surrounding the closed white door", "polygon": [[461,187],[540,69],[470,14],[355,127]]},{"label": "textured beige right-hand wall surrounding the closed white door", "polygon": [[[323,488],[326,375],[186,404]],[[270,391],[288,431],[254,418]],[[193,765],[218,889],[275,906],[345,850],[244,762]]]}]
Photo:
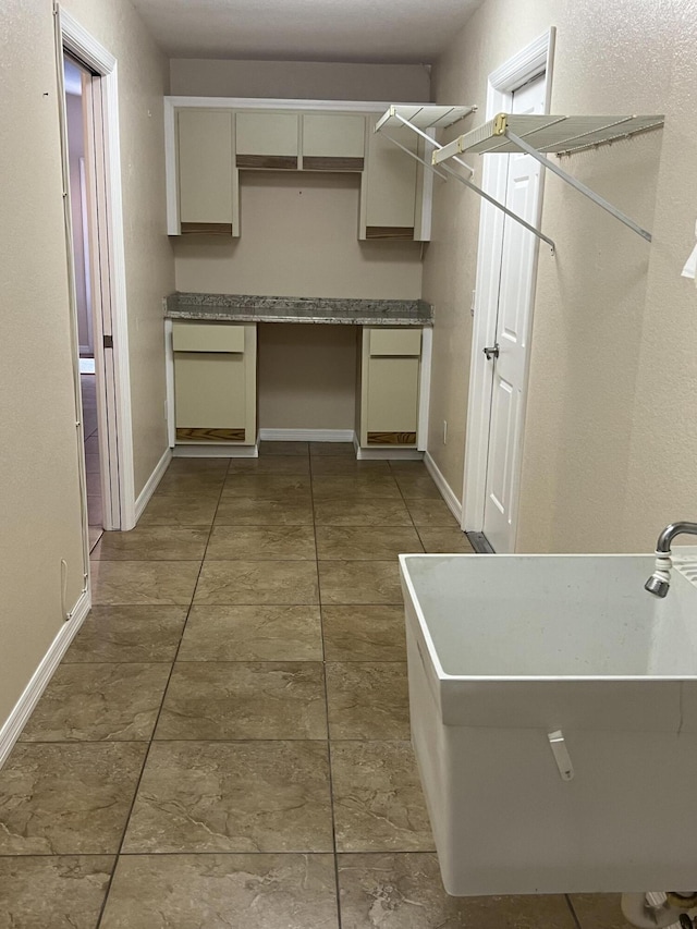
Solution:
[{"label": "textured beige right-hand wall surrounding the closed white door", "polygon": [[[684,130],[695,12],[692,0],[487,0],[435,69],[437,101],[479,105],[469,127],[484,119],[488,74],[555,25],[552,112],[667,113],[663,133],[565,162],[651,229],[651,246],[547,179],[542,225],[559,250],[540,252],[519,551],[647,549],[671,518],[695,515],[696,295],[680,278],[697,215]],[[438,182],[424,296],[436,305],[429,448],[460,492],[479,204],[453,186]]]}]

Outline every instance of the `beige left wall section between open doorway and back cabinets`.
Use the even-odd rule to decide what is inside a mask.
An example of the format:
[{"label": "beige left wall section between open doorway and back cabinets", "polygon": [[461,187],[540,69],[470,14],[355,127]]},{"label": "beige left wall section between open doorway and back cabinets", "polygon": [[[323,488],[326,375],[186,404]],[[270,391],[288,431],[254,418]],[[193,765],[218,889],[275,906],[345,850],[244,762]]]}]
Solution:
[{"label": "beige left wall section between open doorway and back cabinets", "polygon": [[119,62],[119,129],[136,496],[168,447],[162,297],[174,290],[164,206],[169,63],[129,0],[65,0]]}]

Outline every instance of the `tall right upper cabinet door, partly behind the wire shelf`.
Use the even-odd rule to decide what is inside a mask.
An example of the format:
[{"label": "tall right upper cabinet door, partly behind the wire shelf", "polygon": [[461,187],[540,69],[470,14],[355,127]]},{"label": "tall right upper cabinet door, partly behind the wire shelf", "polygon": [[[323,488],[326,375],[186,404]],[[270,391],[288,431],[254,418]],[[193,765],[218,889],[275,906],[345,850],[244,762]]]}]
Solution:
[{"label": "tall right upper cabinet door, partly behind the wire shelf", "polygon": [[[389,138],[372,132],[368,120],[367,163],[362,195],[360,239],[413,240],[416,213],[417,162]],[[416,154],[418,137],[409,130],[391,132]]]}]

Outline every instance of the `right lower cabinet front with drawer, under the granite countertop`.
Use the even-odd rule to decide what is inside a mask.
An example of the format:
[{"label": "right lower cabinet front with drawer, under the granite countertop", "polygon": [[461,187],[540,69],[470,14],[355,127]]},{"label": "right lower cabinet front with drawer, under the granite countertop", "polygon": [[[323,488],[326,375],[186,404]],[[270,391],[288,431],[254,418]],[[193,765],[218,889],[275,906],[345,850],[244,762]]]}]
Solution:
[{"label": "right lower cabinet front with drawer, under the granite countertop", "polygon": [[420,343],[420,329],[364,329],[362,445],[416,445]]}]

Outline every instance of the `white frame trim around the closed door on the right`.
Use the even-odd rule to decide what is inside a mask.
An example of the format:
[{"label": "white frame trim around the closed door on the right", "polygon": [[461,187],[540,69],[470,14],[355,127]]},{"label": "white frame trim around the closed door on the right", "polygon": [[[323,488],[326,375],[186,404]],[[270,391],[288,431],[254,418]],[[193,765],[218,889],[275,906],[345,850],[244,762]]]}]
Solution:
[{"label": "white frame trim around the closed door on the right", "polygon": [[[487,111],[485,119],[492,119],[497,113],[509,112],[513,93],[527,84],[528,81],[545,74],[545,110],[549,112],[552,87],[552,66],[554,59],[554,41],[557,29],[551,26],[548,32],[535,41],[521,49],[513,58],[493,71],[488,78]],[[481,187],[499,203],[505,199],[508,174],[508,158],[489,156],[484,158]],[[545,174],[540,178],[539,212],[542,207]],[[482,533],[485,517],[485,498],[487,487],[487,462],[489,455],[489,424],[491,416],[491,364],[480,351],[481,345],[493,344],[496,334],[499,279],[501,256],[503,252],[504,215],[487,203],[481,204],[479,218],[479,245],[477,249],[477,272],[474,295],[474,325],[472,333],[472,356],[469,363],[469,392],[467,401],[467,431],[465,445],[465,474],[463,485],[462,528],[467,533]],[[539,222],[539,216],[538,216]],[[537,268],[539,241],[533,253],[533,264]],[[533,280],[535,281],[535,270]],[[533,328],[533,306],[529,313],[529,332]],[[488,340],[488,341],[487,341]],[[526,390],[529,371],[529,339],[528,356],[526,358]],[[525,408],[526,395],[523,396]],[[525,414],[524,414],[525,415]],[[523,444],[524,430],[519,437],[516,461],[519,476],[519,448]],[[518,479],[515,478],[516,498],[518,497]],[[517,521],[517,499],[513,512],[513,531]]]}]

